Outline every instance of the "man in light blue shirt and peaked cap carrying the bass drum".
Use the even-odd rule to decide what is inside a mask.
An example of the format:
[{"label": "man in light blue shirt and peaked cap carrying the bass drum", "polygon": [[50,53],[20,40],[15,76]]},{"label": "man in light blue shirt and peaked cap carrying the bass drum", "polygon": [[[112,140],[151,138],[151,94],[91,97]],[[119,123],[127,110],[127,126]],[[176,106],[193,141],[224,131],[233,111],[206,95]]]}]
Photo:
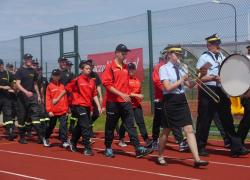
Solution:
[{"label": "man in light blue shirt and peaked cap carrying the bass drum", "polygon": [[210,89],[212,89],[219,97],[220,102],[216,103],[204,90],[199,91],[198,117],[196,124],[196,138],[198,143],[199,154],[208,156],[206,150],[209,129],[211,121],[216,112],[222,122],[222,126],[231,141],[231,156],[239,157],[246,155],[249,151],[242,145],[240,138],[237,136],[233,124],[231,114],[231,101],[222,91],[220,85],[220,77],[218,76],[221,62],[225,59],[221,53],[221,39],[213,34],[206,38],[208,51],[204,52],[196,65],[198,70],[207,69],[207,74],[201,77]]}]

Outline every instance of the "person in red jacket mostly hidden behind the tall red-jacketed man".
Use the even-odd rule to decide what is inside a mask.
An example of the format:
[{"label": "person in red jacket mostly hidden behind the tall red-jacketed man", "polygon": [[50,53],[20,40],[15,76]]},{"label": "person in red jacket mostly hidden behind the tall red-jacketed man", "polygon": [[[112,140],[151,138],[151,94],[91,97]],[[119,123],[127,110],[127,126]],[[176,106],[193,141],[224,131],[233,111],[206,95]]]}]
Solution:
[{"label": "person in red jacket mostly hidden behind the tall red-jacketed man", "polygon": [[[141,82],[136,77],[136,65],[134,63],[128,64],[128,71],[129,71],[129,90],[130,90],[130,97],[131,103],[133,106],[135,122],[139,127],[141,136],[146,143],[146,147],[150,147],[152,145],[152,140],[148,137],[148,132],[145,126],[144,117],[143,117],[143,110],[141,107],[141,101],[144,98],[142,91],[141,91]],[[120,127],[120,142],[119,145],[125,145],[124,137],[125,137],[125,128],[123,124]]]}]

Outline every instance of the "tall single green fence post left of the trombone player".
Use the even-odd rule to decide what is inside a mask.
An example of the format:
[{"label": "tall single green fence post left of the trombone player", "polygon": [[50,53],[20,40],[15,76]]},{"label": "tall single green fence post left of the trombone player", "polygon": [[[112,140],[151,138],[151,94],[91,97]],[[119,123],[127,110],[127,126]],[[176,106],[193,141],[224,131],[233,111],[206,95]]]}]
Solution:
[{"label": "tall single green fence post left of the trombone player", "polygon": [[149,93],[151,101],[151,113],[154,111],[154,89],[152,81],[152,72],[153,72],[153,38],[152,38],[152,18],[151,10],[147,10],[148,15],[148,52],[149,52]]}]

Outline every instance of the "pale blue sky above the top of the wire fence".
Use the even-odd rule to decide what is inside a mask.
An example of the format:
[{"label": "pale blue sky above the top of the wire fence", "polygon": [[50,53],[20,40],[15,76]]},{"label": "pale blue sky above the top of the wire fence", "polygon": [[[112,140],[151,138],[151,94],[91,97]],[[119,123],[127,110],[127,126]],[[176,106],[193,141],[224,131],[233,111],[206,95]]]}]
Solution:
[{"label": "pale blue sky above the top of the wire fence", "polygon": [[0,0],[0,41],[209,0]]}]

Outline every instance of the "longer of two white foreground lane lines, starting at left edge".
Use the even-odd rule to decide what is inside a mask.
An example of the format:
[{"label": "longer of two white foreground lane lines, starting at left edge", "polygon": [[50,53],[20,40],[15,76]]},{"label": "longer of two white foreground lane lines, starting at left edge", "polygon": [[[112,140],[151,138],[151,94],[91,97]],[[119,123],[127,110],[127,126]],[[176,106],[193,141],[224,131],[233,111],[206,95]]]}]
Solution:
[{"label": "longer of two white foreground lane lines, starting at left edge", "polygon": [[85,162],[85,161],[77,161],[77,160],[72,160],[72,159],[64,159],[64,158],[43,156],[43,155],[37,155],[37,154],[21,153],[21,152],[15,152],[15,151],[6,151],[6,150],[1,150],[1,149],[0,149],[0,152],[10,153],[10,154],[18,154],[18,155],[24,155],[24,156],[30,156],[30,157],[37,157],[37,158],[44,158],[44,159],[53,159],[53,160],[66,161],[66,162],[72,162],[72,163],[78,163],[78,164],[86,164],[86,165],[91,165],[91,166],[105,167],[105,168],[118,169],[118,170],[124,170],[124,171],[145,173],[145,174],[151,174],[151,175],[157,175],[157,176],[163,176],[163,177],[170,177],[170,178],[176,178],[176,179],[199,180],[199,179],[196,179],[196,178],[189,178],[189,177],[184,177],[184,176],[175,176],[175,175],[171,175],[171,174],[151,172],[151,171],[145,171],[145,170],[139,170],[139,169],[130,169],[130,168],[124,168],[124,167],[119,167],[119,166],[111,166],[111,165],[106,165],[106,164],[90,163],[90,162]]}]

